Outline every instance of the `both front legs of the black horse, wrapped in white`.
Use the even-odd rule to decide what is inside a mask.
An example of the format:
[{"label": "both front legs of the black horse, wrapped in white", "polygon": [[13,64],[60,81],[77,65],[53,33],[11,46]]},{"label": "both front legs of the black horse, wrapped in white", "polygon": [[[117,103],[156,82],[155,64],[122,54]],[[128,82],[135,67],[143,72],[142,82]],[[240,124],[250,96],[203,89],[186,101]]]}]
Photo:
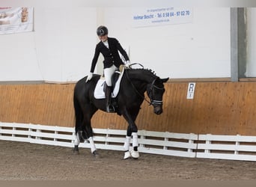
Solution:
[{"label": "both front legs of the black horse, wrapped in white", "polygon": [[[127,111],[124,113],[124,118],[129,123],[128,128],[127,128],[126,140],[124,142],[124,159],[129,159],[129,157],[132,157],[133,159],[138,159],[138,157],[139,157],[138,128],[134,122],[136,116],[137,115],[135,115],[134,117],[131,117]],[[129,151],[131,138],[132,138],[132,150]]]}]

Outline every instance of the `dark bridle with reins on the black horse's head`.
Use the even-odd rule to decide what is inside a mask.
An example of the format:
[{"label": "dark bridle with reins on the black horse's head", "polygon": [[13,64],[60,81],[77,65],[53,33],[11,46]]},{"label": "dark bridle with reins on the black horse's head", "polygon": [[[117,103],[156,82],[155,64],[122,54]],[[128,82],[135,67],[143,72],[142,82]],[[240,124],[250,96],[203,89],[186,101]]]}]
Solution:
[{"label": "dark bridle with reins on the black horse's head", "polygon": [[151,99],[153,97],[153,88],[156,88],[158,90],[163,90],[164,89],[164,87],[159,88],[155,85],[157,77],[151,83],[150,89],[148,91],[148,96],[150,98],[150,101],[148,101],[148,99],[146,99],[144,97],[144,95],[142,96],[141,93],[138,92],[137,88],[135,88],[135,86],[132,84],[132,81],[131,81],[131,79],[129,79],[127,71],[126,71],[126,75],[127,75],[127,79],[129,80],[129,83],[132,85],[132,88],[135,90],[135,92],[138,94],[138,96],[141,96],[141,98],[144,99],[149,105],[162,105],[162,100]]}]

